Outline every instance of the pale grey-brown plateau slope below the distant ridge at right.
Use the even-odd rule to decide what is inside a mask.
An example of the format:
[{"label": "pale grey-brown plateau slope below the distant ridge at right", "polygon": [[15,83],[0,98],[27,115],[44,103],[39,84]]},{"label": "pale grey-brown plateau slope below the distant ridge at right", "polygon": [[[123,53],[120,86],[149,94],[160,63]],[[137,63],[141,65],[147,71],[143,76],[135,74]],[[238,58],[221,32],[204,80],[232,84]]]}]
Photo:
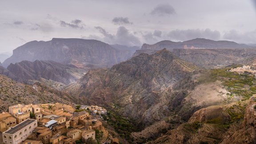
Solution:
[{"label": "pale grey-brown plateau slope below the distant ridge at right", "polygon": [[221,68],[256,54],[255,49],[173,49],[173,53],[183,60],[202,68]]}]

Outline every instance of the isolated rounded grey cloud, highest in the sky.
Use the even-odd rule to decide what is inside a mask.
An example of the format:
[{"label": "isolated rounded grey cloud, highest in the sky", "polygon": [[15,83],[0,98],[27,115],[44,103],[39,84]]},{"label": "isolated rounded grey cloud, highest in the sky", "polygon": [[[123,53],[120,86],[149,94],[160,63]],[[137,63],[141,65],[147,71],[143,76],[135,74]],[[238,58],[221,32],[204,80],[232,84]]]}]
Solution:
[{"label": "isolated rounded grey cloud, highest in the sky", "polygon": [[170,4],[160,4],[156,6],[151,12],[151,15],[166,16],[176,14],[175,9]]}]

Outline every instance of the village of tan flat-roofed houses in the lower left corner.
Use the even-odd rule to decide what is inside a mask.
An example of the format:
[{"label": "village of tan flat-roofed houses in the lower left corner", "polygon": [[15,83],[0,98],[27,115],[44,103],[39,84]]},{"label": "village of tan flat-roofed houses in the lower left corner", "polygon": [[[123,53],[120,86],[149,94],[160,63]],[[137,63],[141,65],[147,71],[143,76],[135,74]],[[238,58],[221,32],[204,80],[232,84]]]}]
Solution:
[{"label": "village of tan flat-roofed houses in the lower left corner", "polygon": [[95,140],[95,129],[101,126],[85,111],[52,111],[32,104],[11,106],[0,114],[4,144],[75,144],[76,140]]}]

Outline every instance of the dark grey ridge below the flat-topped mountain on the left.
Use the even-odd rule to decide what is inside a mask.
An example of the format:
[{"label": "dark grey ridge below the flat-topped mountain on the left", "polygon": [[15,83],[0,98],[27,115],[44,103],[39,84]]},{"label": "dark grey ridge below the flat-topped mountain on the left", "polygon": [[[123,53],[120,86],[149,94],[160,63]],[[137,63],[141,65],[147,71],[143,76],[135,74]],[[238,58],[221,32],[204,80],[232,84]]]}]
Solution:
[{"label": "dark grey ridge below the flat-topped mountain on the left", "polygon": [[22,83],[26,83],[28,80],[44,78],[62,84],[70,84],[80,79],[85,72],[72,64],[65,65],[54,61],[36,60],[30,62],[24,60],[16,64],[10,64],[2,74]]}]

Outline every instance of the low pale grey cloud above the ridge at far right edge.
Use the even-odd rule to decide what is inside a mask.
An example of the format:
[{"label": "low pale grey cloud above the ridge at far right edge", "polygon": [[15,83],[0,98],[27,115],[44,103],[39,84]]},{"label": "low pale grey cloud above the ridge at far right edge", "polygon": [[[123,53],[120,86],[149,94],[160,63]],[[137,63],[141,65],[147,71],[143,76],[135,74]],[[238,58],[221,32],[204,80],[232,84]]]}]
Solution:
[{"label": "low pale grey cloud above the ridge at far right edge", "polygon": [[230,30],[224,33],[223,38],[237,43],[256,44],[256,30],[244,33]]}]

